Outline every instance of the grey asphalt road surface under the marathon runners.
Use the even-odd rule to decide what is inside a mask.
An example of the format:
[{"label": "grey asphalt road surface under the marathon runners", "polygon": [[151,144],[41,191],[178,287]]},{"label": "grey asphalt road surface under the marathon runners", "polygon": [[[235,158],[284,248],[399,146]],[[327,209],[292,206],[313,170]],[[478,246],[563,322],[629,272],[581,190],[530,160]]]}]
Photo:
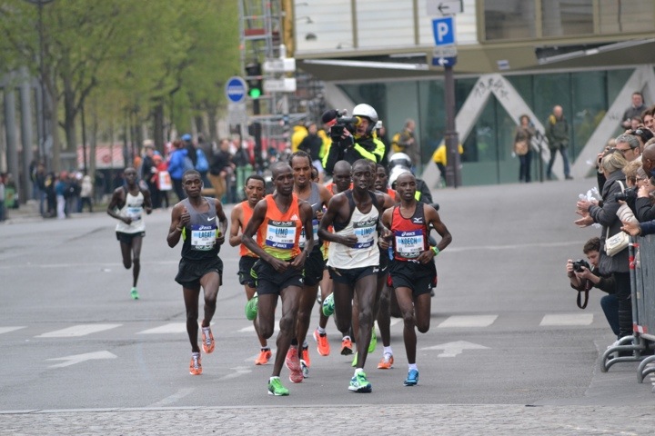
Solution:
[{"label": "grey asphalt road surface under the marathon runners", "polygon": [[[257,338],[244,316],[237,249],[227,245],[213,322],[217,349],[203,356],[202,376],[190,376],[182,292],[173,280],[180,247],[166,244],[169,212],[146,217],[139,301],[129,298],[131,272],[122,266],[111,217],[16,217],[0,225],[0,421],[116,408],[651,405],[651,380],[637,383],[636,363],[600,372],[600,354],[614,340],[600,292],[579,310],[564,272],[566,260],[582,257],[583,243],[600,233],[572,223],[578,194],[593,184],[435,192],[453,243],[438,256],[430,331],[418,336],[420,381],[402,384],[402,322],[392,319],[395,367],[376,369],[378,345],[366,368],[370,394],[348,391],[350,359],[338,353],[330,321],[332,354],[319,356],[309,336],[309,378],[293,384],[285,368],[290,395],[267,395],[272,366],[253,364]],[[310,332],[316,326],[313,316]]]}]

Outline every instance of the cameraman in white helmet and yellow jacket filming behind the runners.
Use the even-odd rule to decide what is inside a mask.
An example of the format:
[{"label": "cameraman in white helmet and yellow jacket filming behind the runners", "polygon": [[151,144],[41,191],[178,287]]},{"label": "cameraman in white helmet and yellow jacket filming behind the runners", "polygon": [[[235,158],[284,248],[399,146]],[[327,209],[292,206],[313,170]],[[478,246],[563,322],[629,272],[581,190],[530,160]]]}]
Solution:
[{"label": "cameraman in white helmet and yellow jacket filming behind the runners", "polygon": [[359,159],[368,159],[379,163],[385,154],[385,145],[375,134],[376,110],[368,104],[358,104],[353,109],[352,118],[342,115],[335,110],[323,114],[323,123],[330,124],[332,139],[328,153],[323,157],[325,171],[332,173],[338,161],[355,163]]}]

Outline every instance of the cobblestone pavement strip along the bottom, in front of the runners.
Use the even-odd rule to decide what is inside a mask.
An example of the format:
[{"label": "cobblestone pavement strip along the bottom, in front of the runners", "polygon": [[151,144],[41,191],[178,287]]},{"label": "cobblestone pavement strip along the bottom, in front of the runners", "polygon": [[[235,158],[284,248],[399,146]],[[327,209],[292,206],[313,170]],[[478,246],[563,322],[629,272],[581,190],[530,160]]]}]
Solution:
[{"label": "cobblestone pavement strip along the bottom, in front of the runners", "polygon": [[[284,398],[277,399],[280,403]],[[378,405],[0,411],[0,435],[466,434],[647,435],[638,407]]]}]

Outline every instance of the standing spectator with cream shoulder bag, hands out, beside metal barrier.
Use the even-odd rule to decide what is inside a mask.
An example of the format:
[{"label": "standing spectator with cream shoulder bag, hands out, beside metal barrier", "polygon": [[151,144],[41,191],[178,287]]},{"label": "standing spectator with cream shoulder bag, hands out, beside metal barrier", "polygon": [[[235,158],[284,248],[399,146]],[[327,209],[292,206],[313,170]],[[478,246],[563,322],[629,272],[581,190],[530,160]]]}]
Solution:
[{"label": "standing spectator with cream shoulder bag, hands out, beside metal barrier", "polygon": [[[617,213],[620,203],[615,198],[617,193],[625,191],[626,178],[621,171],[628,164],[619,150],[612,149],[600,161],[600,169],[607,181],[602,188],[602,205],[587,200],[578,202],[578,213],[583,215],[576,223],[600,223],[600,261],[599,272],[611,273],[616,281],[616,293],[619,301],[620,337],[632,334],[632,305],[630,302],[630,263],[628,262],[628,245],[623,238],[621,222]],[[591,221],[593,220],[593,221]],[[616,242],[616,243],[614,243]],[[625,246],[624,246],[625,245]]]}]

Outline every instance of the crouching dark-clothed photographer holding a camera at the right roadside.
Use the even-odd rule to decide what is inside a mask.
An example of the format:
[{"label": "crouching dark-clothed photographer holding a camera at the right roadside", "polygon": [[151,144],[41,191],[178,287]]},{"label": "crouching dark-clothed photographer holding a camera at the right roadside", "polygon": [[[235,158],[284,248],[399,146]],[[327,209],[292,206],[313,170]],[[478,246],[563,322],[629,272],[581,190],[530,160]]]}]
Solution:
[{"label": "crouching dark-clothed photographer holding a camera at the right roadside", "polygon": [[[616,297],[616,286],[611,276],[603,276],[598,271],[600,259],[600,238],[594,237],[589,239],[582,247],[582,253],[585,253],[589,263],[579,259],[573,262],[567,261],[566,270],[569,276],[571,288],[578,291],[578,307],[584,309],[587,307],[587,297],[589,289],[598,288],[602,292],[607,292],[600,299],[600,307],[605,313],[605,318],[610,324],[612,332],[619,336],[619,302]],[[585,292],[584,303],[580,303],[580,292]]]}]

